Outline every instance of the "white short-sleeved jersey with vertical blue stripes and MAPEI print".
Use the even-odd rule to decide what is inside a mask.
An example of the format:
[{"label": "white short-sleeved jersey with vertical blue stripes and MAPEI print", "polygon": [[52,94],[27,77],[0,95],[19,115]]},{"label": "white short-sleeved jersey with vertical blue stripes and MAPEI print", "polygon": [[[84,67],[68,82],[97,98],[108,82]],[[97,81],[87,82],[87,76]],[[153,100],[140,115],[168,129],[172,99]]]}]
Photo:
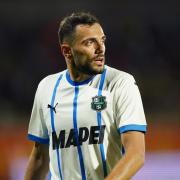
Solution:
[{"label": "white short-sleeved jersey with vertical blue stripes and MAPEI print", "polygon": [[83,82],[72,81],[68,70],[40,82],[28,137],[49,143],[51,179],[104,179],[122,156],[126,131],[146,131],[132,75],[105,66]]}]

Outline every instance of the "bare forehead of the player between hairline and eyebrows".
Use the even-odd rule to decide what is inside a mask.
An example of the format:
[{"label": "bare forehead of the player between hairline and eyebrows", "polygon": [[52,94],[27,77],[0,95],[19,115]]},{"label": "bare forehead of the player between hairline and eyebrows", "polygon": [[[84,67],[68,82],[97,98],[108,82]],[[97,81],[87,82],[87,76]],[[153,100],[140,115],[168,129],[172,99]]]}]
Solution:
[{"label": "bare forehead of the player between hairline and eyebrows", "polygon": [[102,38],[104,36],[103,29],[98,23],[95,23],[93,25],[77,25],[74,34],[76,40],[84,40],[88,38]]}]

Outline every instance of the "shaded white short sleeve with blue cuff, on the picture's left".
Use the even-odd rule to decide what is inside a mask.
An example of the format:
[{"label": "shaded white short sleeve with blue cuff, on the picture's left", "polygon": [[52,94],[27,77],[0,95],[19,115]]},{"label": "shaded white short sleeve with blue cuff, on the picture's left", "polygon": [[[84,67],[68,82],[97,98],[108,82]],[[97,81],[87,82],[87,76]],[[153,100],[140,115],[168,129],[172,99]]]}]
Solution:
[{"label": "shaded white short sleeve with blue cuff, on the picture's left", "polygon": [[43,118],[40,85],[37,88],[34,104],[32,108],[31,118],[28,128],[28,139],[39,143],[49,143],[48,130]]}]

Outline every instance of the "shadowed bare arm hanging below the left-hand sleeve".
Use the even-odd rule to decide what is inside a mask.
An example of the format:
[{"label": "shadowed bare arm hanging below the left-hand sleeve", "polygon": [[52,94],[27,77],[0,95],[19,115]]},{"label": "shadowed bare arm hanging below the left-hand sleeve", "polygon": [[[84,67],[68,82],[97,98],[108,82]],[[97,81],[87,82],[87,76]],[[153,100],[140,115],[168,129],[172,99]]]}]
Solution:
[{"label": "shadowed bare arm hanging below the left-hand sleeve", "polygon": [[49,169],[48,145],[35,143],[32,149],[25,180],[44,180]]}]

